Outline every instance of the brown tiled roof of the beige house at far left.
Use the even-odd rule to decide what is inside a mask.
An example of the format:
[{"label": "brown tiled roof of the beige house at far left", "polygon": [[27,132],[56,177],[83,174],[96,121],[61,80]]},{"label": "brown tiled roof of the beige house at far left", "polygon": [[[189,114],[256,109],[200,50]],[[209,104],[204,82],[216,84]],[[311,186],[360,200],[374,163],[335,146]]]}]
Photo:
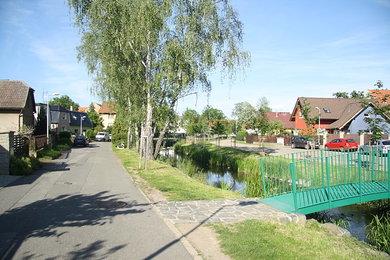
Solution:
[{"label": "brown tiled roof of the beige house at far left", "polygon": [[24,109],[29,93],[35,104],[34,92],[33,88],[21,80],[0,80],[0,108]]}]

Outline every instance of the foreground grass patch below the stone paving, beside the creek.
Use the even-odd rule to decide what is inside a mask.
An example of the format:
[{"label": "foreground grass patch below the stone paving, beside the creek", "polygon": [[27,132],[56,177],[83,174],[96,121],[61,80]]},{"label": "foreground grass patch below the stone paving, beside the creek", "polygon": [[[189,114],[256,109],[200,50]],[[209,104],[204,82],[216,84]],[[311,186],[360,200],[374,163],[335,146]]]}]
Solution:
[{"label": "foreground grass patch below the stone paving, beside the creek", "polygon": [[388,259],[351,237],[337,237],[316,221],[295,223],[246,220],[208,224],[218,234],[222,252],[234,260]]}]

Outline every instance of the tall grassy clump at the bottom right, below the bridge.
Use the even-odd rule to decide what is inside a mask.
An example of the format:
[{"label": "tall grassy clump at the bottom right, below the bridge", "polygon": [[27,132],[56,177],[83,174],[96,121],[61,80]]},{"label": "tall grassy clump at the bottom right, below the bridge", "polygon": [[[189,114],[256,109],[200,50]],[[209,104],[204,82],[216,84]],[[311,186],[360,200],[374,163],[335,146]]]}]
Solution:
[{"label": "tall grassy clump at the bottom right, below the bridge", "polygon": [[378,215],[367,225],[367,239],[371,245],[390,254],[390,212],[386,212],[380,218]]}]

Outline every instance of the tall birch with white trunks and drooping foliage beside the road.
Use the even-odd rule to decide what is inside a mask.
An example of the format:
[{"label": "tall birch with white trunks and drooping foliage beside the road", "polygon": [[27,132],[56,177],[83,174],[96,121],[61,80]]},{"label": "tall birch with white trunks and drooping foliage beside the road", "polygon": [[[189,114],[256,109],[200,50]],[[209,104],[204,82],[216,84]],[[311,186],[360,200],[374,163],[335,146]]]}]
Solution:
[{"label": "tall birch with white trunks and drooping foliage beside the road", "polygon": [[[229,0],[68,0],[81,43],[78,59],[102,98],[137,103],[148,158],[158,155],[178,99],[211,90],[220,67],[229,82],[250,61],[242,50],[243,25]],[[166,111],[153,150],[156,107]],[[132,111],[128,112],[133,113]],[[164,118],[164,119],[163,119]],[[129,129],[133,123],[129,122]]]}]

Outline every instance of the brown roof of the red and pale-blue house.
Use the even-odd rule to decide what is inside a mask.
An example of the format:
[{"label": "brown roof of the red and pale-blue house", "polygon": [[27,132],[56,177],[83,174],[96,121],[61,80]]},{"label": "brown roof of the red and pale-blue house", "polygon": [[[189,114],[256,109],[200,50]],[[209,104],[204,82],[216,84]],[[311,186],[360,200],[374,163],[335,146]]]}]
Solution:
[{"label": "brown roof of the red and pale-blue house", "polygon": [[[361,107],[362,99],[332,99],[332,98],[298,98],[295,103],[294,110],[292,111],[291,119],[295,117],[297,113],[297,106],[302,107],[304,100],[310,103],[312,107],[312,111],[309,117],[313,118],[318,116],[318,110],[314,109],[315,107],[319,107],[321,113],[321,119],[331,119],[331,120],[339,120],[345,111],[349,109],[357,109],[359,106]],[[374,100],[367,100],[374,101]],[[348,108],[347,108],[348,107]],[[325,108],[329,109],[329,113],[325,112]],[[347,109],[347,110],[346,110]],[[350,110],[351,112],[351,110]]]}]

